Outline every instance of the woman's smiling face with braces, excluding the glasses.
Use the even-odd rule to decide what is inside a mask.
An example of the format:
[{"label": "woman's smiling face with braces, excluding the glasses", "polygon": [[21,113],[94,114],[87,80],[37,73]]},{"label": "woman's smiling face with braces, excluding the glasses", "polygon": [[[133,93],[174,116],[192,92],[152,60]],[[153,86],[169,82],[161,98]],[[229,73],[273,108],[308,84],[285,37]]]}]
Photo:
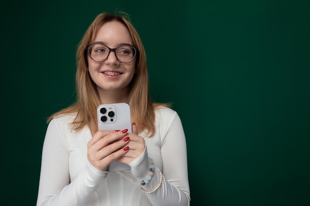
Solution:
[{"label": "woman's smiling face with braces, excluding the glasses", "polygon": [[[100,42],[110,48],[116,48],[122,44],[133,45],[132,38],[127,28],[120,22],[106,22],[98,30],[94,42]],[[97,84],[101,97],[106,95],[123,95],[127,98],[128,84],[135,73],[135,59],[130,63],[120,62],[114,52],[103,62],[95,62],[88,55],[89,73]]]}]

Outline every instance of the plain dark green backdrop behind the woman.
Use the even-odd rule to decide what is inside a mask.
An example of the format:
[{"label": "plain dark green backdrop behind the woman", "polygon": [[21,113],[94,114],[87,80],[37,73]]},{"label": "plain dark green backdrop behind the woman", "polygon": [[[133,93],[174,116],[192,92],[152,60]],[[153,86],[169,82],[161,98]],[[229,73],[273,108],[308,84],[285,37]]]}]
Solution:
[{"label": "plain dark green backdrop behind the woman", "polygon": [[74,101],[76,46],[115,9],[181,117],[191,206],[309,206],[308,0],[0,3],[1,205],[36,204],[46,118]]}]

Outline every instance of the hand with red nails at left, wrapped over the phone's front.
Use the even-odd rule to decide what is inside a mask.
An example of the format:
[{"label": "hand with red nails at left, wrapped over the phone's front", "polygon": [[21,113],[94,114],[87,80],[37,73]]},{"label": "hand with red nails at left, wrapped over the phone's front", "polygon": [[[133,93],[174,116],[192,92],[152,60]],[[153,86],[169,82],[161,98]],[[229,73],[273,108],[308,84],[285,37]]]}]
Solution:
[{"label": "hand with red nails at left, wrapped over the phone's front", "polygon": [[[105,171],[107,166],[127,153],[127,129],[122,131],[99,130],[87,143],[87,159],[96,169]],[[127,135],[127,136],[126,136]]]}]

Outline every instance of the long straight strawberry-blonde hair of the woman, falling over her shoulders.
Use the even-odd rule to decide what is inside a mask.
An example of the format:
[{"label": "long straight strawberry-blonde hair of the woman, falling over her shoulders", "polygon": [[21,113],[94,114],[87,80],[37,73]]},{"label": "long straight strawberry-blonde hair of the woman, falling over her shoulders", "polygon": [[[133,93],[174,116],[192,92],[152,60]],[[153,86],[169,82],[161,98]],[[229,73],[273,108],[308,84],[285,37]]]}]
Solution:
[{"label": "long straight strawberry-blonde hair of the woman, falling over her shoulders", "polygon": [[130,82],[130,92],[128,95],[128,104],[131,109],[132,122],[136,123],[138,132],[146,130],[147,136],[153,136],[155,133],[155,109],[159,106],[170,106],[166,103],[153,103],[149,91],[149,75],[147,68],[147,59],[144,46],[133,27],[128,14],[118,12],[114,15],[110,13],[101,13],[86,30],[84,37],[80,41],[76,51],[76,102],[62,109],[48,118],[48,123],[58,115],[76,114],[72,122],[72,129],[79,130],[85,125],[98,125],[97,107],[101,104],[95,82],[88,72],[87,52],[84,46],[94,41],[97,31],[105,22],[118,21],[128,29],[134,46],[138,47],[139,53],[135,59],[135,75]]}]

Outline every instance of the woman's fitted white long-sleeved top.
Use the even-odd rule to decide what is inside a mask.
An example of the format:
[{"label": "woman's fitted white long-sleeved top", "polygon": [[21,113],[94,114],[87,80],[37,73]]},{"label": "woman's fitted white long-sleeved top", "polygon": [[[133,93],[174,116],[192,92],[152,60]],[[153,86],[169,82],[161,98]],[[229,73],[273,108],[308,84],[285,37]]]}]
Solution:
[{"label": "woman's fitted white long-sleeved top", "polygon": [[[181,120],[167,107],[155,110],[155,117],[156,132],[145,138],[144,153],[129,164],[131,170],[113,172],[100,171],[88,162],[87,143],[92,138],[88,126],[71,130],[73,115],[54,118],[43,145],[37,206],[189,206],[187,148]],[[145,137],[145,132],[139,136]],[[132,175],[149,169],[144,166],[148,157],[163,176],[161,186],[151,194],[142,192]],[[152,190],[158,182],[155,169],[152,179],[142,187]]]}]

